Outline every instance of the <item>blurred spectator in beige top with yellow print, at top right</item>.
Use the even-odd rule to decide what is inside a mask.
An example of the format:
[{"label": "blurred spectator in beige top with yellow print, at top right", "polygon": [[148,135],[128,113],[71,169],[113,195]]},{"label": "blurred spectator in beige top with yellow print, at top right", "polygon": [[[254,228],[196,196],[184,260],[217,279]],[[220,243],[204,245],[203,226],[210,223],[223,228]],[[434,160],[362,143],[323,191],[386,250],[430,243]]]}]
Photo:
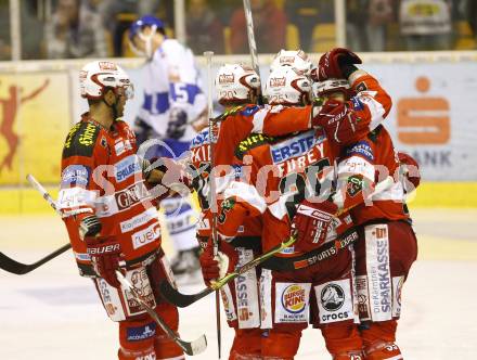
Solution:
[{"label": "blurred spectator in beige top with yellow print, at top right", "polygon": [[399,23],[408,50],[449,50],[451,48],[450,0],[401,0]]}]

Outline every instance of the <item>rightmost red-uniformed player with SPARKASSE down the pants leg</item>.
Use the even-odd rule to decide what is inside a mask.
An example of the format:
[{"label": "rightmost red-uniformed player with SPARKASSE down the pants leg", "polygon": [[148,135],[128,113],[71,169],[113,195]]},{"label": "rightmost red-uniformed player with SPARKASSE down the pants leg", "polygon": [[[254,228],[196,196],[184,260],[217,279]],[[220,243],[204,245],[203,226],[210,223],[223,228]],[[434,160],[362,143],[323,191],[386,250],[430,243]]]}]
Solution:
[{"label": "rightmost red-uniformed player with SPARKASSE down the pants leg", "polygon": [[[352,61],[344,49],[324,54],[318,68],[321,80],[319,91],[320,95],[341,92],[344,101],[351,101],[356,108],[363,108],[373,97],[373,79],[365,78]],[[349,91],[336,86],[346,79],[352,89],[361,88],[370,99],[365,102],[356,98],[349,100]],[[415,165],[410,157],[401,155],[401,158],[403,164]],[[404,204],[399,165],[390,136],[383,126],[345,149],[338,163],[340,191],[335,201],[341,207],[357,205],[357,198],[362,198],[366,185],[372,189],[387,176],[394,178],[389,189],[350,210],[359,233],[354,246],[356,279],[362,322],[360,334],[364,359],[369,360],[402,359],[395,343],[397,319],[401,310],[402,284],[416,259],[417,244]],[[357,173],[357,169],[358,176],[350,176],[351,172]],[[408,172],[407,177],[418,184],[415,173]]]}]

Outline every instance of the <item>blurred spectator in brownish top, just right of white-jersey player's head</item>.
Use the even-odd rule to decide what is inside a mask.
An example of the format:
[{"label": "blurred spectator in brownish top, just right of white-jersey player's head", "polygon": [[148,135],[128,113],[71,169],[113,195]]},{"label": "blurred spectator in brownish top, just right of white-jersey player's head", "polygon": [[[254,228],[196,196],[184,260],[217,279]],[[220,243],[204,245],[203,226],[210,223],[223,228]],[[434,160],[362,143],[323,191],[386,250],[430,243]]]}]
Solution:
[{"label": "blurred spectator in brownish top, just right of white-jersey player's head", "polygon": [[223,25],[207,0],[190,0],[185,18],[188,46],[195,54],[207,50],[223,54]]}]

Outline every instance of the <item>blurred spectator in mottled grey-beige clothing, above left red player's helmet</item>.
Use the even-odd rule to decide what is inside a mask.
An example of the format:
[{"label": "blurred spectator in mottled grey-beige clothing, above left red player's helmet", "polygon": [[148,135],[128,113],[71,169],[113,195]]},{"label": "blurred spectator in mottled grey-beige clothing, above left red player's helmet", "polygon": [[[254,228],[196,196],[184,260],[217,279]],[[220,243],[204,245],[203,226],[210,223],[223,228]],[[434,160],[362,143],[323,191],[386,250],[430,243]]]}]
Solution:
[{"label": "blurred spectator in mottled grey-beige clothing, above left red player's helmet", "polygon": [[105,29],[101,16],[87,2],[59,0],[44,31],[49,59],[107,55]]}]

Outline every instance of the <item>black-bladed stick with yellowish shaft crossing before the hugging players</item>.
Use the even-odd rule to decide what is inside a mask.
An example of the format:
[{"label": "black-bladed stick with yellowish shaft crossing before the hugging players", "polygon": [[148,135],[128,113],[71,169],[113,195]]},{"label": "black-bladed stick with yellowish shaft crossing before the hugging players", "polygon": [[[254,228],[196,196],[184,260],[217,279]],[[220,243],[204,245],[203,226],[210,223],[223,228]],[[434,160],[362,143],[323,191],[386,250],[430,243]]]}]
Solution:
[{"label": "black-bladed stick with yellowish shaft crossing before the hugging players", "polygon": [[244,266],[235,269],[235,271],[228,273],[222,279],[219,279],[216,282],[212,282],[210,284],[210,287],[206,287],[203,291],[195,293],[195,294],[181,294],[178,290],[173,288],[172,285],[169,284],[167,281],[163,281],[160,283],[160,294],[163,297],[169,301],[172,305],[176,305],[180,308],[185,308],[195,301],[202,299],[203,297],[206,297],[208,294],[214,293],[215,291],[218,291],[223,285],[225,285],[231,280],[234,280],[238,278],[241,274],[247,272],[248,270],[257,267],[258,265],[262,263],[265,260],[271,258],[276,253],[280,253],[284,248],[292,246],[296,241],[295,236],[291,236],[287,241],[281,243],[280,245],[276,245],[266,254],[262,254],[261,256],[248,261]]}]

